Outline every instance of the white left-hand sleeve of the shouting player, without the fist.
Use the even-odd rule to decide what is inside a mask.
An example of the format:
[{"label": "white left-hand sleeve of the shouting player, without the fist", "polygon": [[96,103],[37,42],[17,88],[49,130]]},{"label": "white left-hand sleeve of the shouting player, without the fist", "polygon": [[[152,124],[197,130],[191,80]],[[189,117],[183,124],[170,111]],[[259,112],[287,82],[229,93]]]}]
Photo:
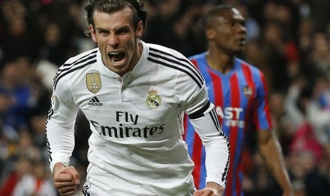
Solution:
[{"label": "white left-hand sleeve of the shouting player, without the fist", "polygon": [[75,104],[68,77],[61,77],[54,86],[51,108],[46,120],[45,132],[50,169],[55,163],[69,165],[75,146],[75,120],[78,106]]}]

